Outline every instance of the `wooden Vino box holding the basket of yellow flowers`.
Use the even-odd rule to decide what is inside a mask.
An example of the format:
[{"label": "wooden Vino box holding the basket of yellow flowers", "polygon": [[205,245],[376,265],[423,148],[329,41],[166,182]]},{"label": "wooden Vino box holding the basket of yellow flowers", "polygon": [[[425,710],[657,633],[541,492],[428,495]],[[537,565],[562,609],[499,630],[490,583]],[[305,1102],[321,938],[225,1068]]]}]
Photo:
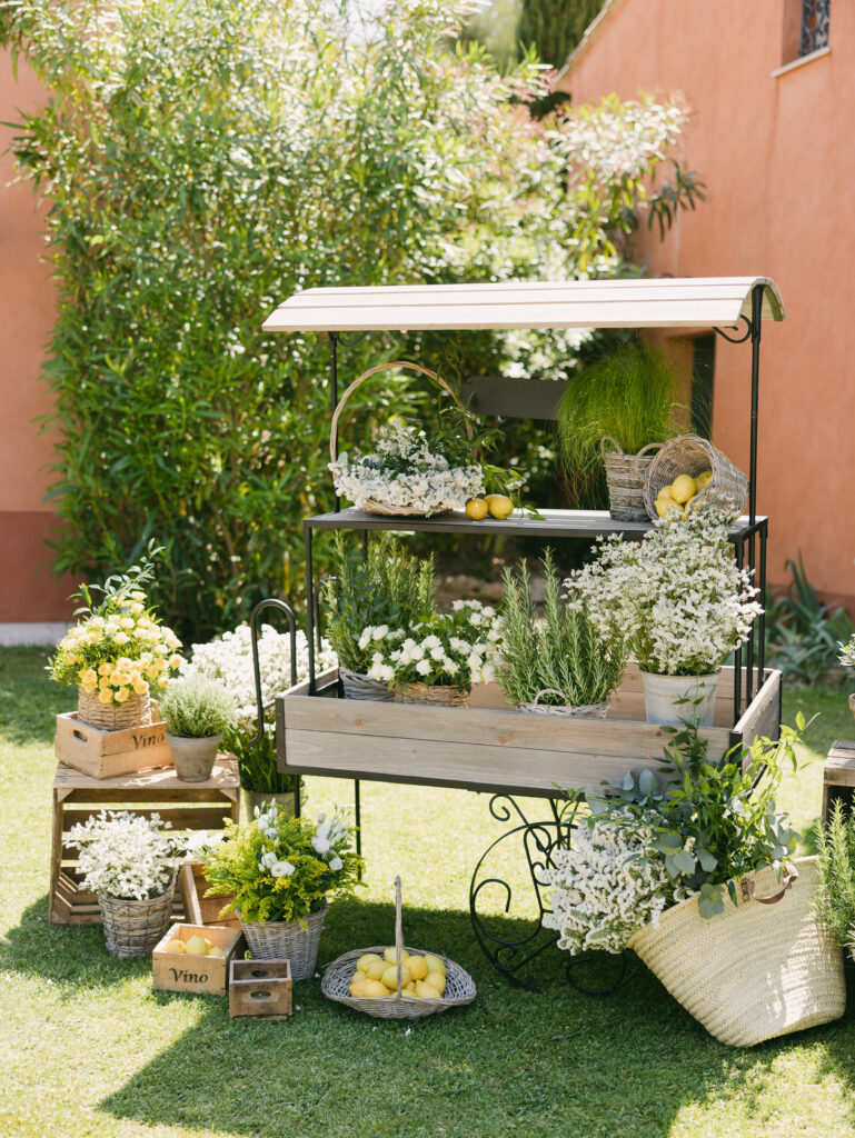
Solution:
[{"label": "wooden Vino box holding the basket of yellow flowers", "polygon": [[76,711],[69,711],[57,716],[54,749],[60,762],[92,778],[115,778],[173,765],[164,723],[99,731],[83,723]]}]

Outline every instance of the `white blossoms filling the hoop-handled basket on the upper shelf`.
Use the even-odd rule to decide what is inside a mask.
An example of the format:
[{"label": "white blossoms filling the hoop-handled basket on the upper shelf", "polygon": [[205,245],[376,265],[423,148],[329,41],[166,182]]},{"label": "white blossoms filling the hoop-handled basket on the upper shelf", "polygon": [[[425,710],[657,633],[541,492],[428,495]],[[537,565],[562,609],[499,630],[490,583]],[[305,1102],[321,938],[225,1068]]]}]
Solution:
[{"label": "white blossoms filling the hoop-handled basket on the upper shelf", "polygon": [[371,500],[442,513],[462,510],[485,489],[479,465],[452,467],[444,455],[431,453],[422,430],[397,421],[380,428],[376,453],[351,462],[345,452],[329,469],[336,490],[359,509]]}]

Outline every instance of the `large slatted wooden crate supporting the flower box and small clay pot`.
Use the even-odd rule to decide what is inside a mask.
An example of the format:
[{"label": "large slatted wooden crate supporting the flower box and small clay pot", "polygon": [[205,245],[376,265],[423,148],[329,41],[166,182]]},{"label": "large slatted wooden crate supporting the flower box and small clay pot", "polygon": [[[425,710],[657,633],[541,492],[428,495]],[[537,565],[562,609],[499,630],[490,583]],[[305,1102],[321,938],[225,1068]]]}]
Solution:
[{"label": "large slatted wooden crate supporting the flower box and small clay pot", "polygon": [[[221,830],[223,818],[238,820],[240,778],[237,760],[220,754],[211,778],[184,783],[174,767],[143,770],[116,778],[92,778],[73,767],[59,764],[54,780],[54,836],[50,857],[51,924],[100,924],[101,913],[94,893],[77,888],[77,850],[67,844],[68,830],[99,810],[133,810],[150,817],[159,814],[174,832]],[[180,890],[175,891],[173,913],[183,916]]]}]

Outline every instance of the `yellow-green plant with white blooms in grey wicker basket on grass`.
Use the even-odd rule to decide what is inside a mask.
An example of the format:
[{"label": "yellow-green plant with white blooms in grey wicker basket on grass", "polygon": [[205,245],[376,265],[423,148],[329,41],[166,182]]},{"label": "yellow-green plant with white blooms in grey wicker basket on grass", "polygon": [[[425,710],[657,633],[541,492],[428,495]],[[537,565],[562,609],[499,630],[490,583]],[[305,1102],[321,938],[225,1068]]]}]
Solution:
[{"label": "yellow-green plant with white blooms in grey wicker basket on grass", "polygon": [[271,802],[203,852],[208,892],[233,893],[221,916],[240,918],[253,956],[288,957],[295,980],[314,974],[331,897],[359,880],[362,859],[347,823],[335,814],[294,818]]}]

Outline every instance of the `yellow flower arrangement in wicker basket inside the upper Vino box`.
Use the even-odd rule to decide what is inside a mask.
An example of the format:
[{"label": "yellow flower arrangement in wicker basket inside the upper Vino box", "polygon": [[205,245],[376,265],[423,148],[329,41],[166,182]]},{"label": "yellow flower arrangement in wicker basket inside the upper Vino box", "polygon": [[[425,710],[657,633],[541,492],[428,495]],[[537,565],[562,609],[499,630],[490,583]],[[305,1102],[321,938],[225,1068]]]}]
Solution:
[{"label": "yellow flower arrangement in wicker basket inside the upper Vino box", "polygon": [[101,731],[150,723],[151,696],[183,663],[181,642],[159,622],[142,587],[154,579],[158,552],[150,549],[139,566],[104,585],[81,586],[80,620],[48,663],[54,679],[76,686],[79,717]]}]

